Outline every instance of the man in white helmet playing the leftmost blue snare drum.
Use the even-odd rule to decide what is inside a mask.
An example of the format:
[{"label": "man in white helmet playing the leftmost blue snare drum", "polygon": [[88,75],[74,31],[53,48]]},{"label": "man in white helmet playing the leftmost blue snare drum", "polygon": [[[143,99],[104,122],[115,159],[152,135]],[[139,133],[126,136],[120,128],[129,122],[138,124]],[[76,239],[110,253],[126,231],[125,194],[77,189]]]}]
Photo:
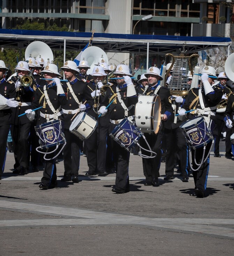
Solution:
[{"label": "man in white helmet playing the leftmost blue snare drum", "polygon": [[[66,93],[67,90],[64,88],[58,77],[61,74],[58,72],[58,67],[49,63],[42,70],[44,74],[46,85],[39,86],[35,91],[34,100],[32,102],[31,109],[25,111],[29,119],[34,119],[34,111],[38,107],[42,107],[38,113],[37,125],[50,122],[52,120],[62,120],[62,129],[63,129],[63,111],[61,105],[65,105],[67,102]],[[51,81],[52,80],[52,81]],[[56,154],[56,146],[48,148],[47,152],[54,151],[51,154],[47,155],[47,158],[53,158]],[[43,177],[41,179],[41,184],[39,188],[48,189],[54,188],[57,185],[57,176],[56,176],[56,160],[46,160],[45,169],[43,171]]]}]

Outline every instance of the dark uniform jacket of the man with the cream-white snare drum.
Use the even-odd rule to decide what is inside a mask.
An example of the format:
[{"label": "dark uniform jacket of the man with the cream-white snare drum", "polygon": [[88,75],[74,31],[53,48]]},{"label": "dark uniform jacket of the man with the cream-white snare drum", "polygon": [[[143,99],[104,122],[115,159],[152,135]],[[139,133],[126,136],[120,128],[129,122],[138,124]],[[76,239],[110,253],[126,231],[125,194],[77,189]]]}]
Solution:
[{"label": "dark uniform jacket of the man with the cream-white snare drum", "polygon": [[[93,98],[90,95],[89,89],[87,87],[87,83],[80,81],[78,78],[75,78],[72,82],[69,81],[74,94],[80,103],[85,103],[86,112],[93,106]],[[67,101],[65,105],[62,105],[62,108],[65,110],[75,110],[79,108],[78,103],[75,101],[72,96],[70,89],[67,87],[66,83],[63,83],[63,86],[67,89]],[[74,113],[75,114],[75,113]],[[71,125],[71,119],[74,114],[66,114],[64,113],[64,128],[69,129]]]}]

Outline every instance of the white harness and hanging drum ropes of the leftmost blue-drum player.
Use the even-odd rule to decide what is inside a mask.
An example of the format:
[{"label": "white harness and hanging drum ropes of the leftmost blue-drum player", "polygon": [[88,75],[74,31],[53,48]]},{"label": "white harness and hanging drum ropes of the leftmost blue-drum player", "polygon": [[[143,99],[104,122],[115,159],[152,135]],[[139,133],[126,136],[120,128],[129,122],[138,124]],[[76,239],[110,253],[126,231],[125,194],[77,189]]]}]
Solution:
[{"label": "white harness and hanging drum ropes of the leftmost blue-drum player", "polygon": [[[59,107],[57,110],[55,110],[55,108],[53,107],[53,105],[52,105],[52,103],[51,103],[51,101],[50,101],[50,99],[49,99],[48,93],[47,93],[47,91],[46,91],[46,85],[44,85],[43,89],[44,89],[44,95],[45,95],[45,99],[46,99],[46,101],[47,101],[47,103],[48,103],[48,106],[50,107],[50,109],[53,111],[54,114],[53,114],[53,115],[46,115],[46,114],[43,114],[43,113],[40,112],[40,116],[46,118],[46,122],[48,122],[48,121],[49,121],[50,119],[52,119],[52,118],[55,119],[55,120],[57,120],[58,116],[60,116],[60,115],[63,114],[62,111],[59,111],[59,110],[61,109],[61,107]],[[58,149],[58,147],[59,147],[60,144],[57,143],[56,148],[55,148],[53,151],[50,151],[50,152],[48,152],[49,148],[46,149],[46,152],[42,152],[42,151],[39,151],[39,150],[38,150],[39,148],[41,148],[41,146],[39,146],[39,147],[36,148],[36,151],[37,151],[37,152],[44,154],[44,157],[43,157],[44,160],[47,160],[47,161],[53,160],[54,158],[56,158],[56,157],[62,152],[63,148],[65,147],[65,145],[66,145],[67,142],[66,142],[66,139],[65,139],[64,134],[61,132],[61,123],[60,123],[60,125],[59,125],[59,133],[58,133],[58,134],[60,134],[60,133],[61,133],[61,136],[63,137],[65,143],[63,144],[63,147],[59,150],[58,154],[56,154],[54,157],[52,157],[52,158],[50,158],[50,159],[47,159],[47,158],[46,158],[46,155],[47,155],[47,154],[54,153],[54,152]],[[40,138],[38,132],[37,132],[37,135],[38,135],[38,137]],[[58,136],[56,135],[55,132],[54,132],[54,136],[56,136],[56,139],[58,140]]]}]

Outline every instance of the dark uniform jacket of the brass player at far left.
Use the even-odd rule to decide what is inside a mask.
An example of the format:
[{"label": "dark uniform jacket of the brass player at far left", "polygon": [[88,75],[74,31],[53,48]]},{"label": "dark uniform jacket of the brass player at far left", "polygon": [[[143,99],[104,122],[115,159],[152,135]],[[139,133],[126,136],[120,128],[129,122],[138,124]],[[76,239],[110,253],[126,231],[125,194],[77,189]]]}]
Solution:
[{"label": "dark uniform jacket of the brass player at far left", "polygon": [[[19,77],[18,76],[13,76],[10,81],[16,83],[18,81]],[[24,114],[24,112],[27,109],[31,109],[31,102],[34,97],[34,89],[36,86],[36,83],[32,81],[31,86],[24,87],[20,86],[16,89],[16,101],[19,101],[21,103],[27,103],[26,106],[19,106],[16,108],[12,108],[12,118],[11,118],[11,123],[14,125],[19,125],[19,124],[25,124],[25,123],[32,123],[27,117],[27,115],[23,115],[18,117],[18,115]],[[20,104],[19,104],[20,105]]]}]

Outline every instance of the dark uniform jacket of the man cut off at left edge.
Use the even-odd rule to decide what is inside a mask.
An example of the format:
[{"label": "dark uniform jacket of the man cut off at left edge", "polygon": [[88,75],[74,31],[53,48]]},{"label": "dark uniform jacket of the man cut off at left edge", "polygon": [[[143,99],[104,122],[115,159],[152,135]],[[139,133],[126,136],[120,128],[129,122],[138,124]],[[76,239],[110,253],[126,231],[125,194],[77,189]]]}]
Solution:
[{"label": "dark uniform jacket of the man cut off at left edge", "polygon": [[[12,81],[6,81],[4,78],[0,81],[0,94],[6,99],[16,98],[15,85]],[[10,124],[11,108],[7,107],[0,110],[0,126]]]}]

